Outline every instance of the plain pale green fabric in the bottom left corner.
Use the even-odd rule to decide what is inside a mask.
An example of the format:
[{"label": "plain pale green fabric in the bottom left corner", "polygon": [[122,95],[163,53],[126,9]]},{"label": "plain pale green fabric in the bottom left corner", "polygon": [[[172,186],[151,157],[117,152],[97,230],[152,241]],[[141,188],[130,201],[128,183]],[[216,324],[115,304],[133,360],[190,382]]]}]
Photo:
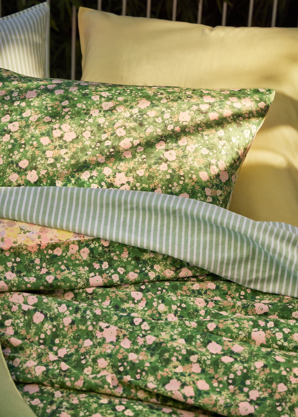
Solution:
[{"label": "plain pale green fabric in the bottom left corner", "polygon": [[6,365],[0,345],[0,414],[1,417],[36,417],[18,392]]}]

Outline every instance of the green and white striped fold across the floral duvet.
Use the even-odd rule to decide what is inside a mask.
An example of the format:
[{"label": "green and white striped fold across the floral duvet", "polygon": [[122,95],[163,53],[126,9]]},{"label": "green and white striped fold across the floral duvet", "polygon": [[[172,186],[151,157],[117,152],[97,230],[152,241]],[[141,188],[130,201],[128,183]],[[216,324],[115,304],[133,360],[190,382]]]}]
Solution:
[{"label": "green and white striped fold across the floral duvet", "polygon": [[0,216],[161,252],[252,289],[298,294],[297,227],[202,201],[145,191],[1,187]]}]

